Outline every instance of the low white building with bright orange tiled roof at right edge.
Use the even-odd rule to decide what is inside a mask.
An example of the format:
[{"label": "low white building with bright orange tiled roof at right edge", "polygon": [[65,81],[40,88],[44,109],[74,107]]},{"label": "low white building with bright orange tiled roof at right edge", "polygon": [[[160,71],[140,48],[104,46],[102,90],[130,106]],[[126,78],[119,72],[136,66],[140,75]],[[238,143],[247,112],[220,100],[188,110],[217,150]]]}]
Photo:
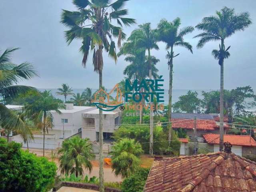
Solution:
[{"label": "low white building with bright orange tiled roof at right edge", "polygon": [[[219,151],[220,134],[204,134],[204,139],[209,145],[213,145],[213,151]],[[243,157],[255,158],[256,141],[250,135],[224,135],[224,142],[232,144],[232,151]]]}]

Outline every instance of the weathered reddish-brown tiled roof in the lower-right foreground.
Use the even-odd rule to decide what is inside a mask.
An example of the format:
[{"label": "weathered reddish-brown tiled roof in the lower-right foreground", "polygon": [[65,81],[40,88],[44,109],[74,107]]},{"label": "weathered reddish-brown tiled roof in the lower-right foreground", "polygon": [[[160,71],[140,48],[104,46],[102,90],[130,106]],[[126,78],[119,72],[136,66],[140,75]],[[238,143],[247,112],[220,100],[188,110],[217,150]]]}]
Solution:
[{"label": "weathered reddish-brown tiled roof in the lower-right foreground", "polygon": [[256,192],[256,163],[226,152],[158,158],[144,192]]}]

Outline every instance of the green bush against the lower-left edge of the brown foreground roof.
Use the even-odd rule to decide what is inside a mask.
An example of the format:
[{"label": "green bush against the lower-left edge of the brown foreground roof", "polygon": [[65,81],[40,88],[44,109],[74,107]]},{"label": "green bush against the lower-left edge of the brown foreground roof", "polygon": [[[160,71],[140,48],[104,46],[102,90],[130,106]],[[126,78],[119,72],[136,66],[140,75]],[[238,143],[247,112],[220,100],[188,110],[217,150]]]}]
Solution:
[{"label": "green bush against the lower-left edge of the brown foreground roof", "polygon": [[149,168],[139,168],[122,182],[122,192],[142,192],[148,178]]}]

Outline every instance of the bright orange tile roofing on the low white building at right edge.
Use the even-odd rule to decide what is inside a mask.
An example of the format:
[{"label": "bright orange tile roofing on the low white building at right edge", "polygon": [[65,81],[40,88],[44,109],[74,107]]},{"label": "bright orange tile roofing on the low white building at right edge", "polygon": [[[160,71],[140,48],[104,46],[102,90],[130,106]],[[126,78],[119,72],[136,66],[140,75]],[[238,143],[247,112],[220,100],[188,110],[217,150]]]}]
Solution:
[{"label": "bright orange tile roofing on the low white building at right edge", "polygon": [[[207,143],[220,144],[220,134],[204,134],[203,137]],[[224,135],[224,142],[239,146],[256,146],[255,140],[250,135]]]}]

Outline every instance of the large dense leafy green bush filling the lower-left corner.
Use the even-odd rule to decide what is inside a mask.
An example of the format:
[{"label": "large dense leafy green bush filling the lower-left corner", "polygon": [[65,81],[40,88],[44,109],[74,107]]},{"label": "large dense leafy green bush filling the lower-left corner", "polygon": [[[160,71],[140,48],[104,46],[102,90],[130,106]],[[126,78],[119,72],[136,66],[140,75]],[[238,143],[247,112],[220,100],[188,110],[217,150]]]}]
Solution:
[{"label": "large dense leafy green bush filling the lower-left corner", "polygon": [[54,185],[56,164],[0,138],[0,191],[45,192]]}]

